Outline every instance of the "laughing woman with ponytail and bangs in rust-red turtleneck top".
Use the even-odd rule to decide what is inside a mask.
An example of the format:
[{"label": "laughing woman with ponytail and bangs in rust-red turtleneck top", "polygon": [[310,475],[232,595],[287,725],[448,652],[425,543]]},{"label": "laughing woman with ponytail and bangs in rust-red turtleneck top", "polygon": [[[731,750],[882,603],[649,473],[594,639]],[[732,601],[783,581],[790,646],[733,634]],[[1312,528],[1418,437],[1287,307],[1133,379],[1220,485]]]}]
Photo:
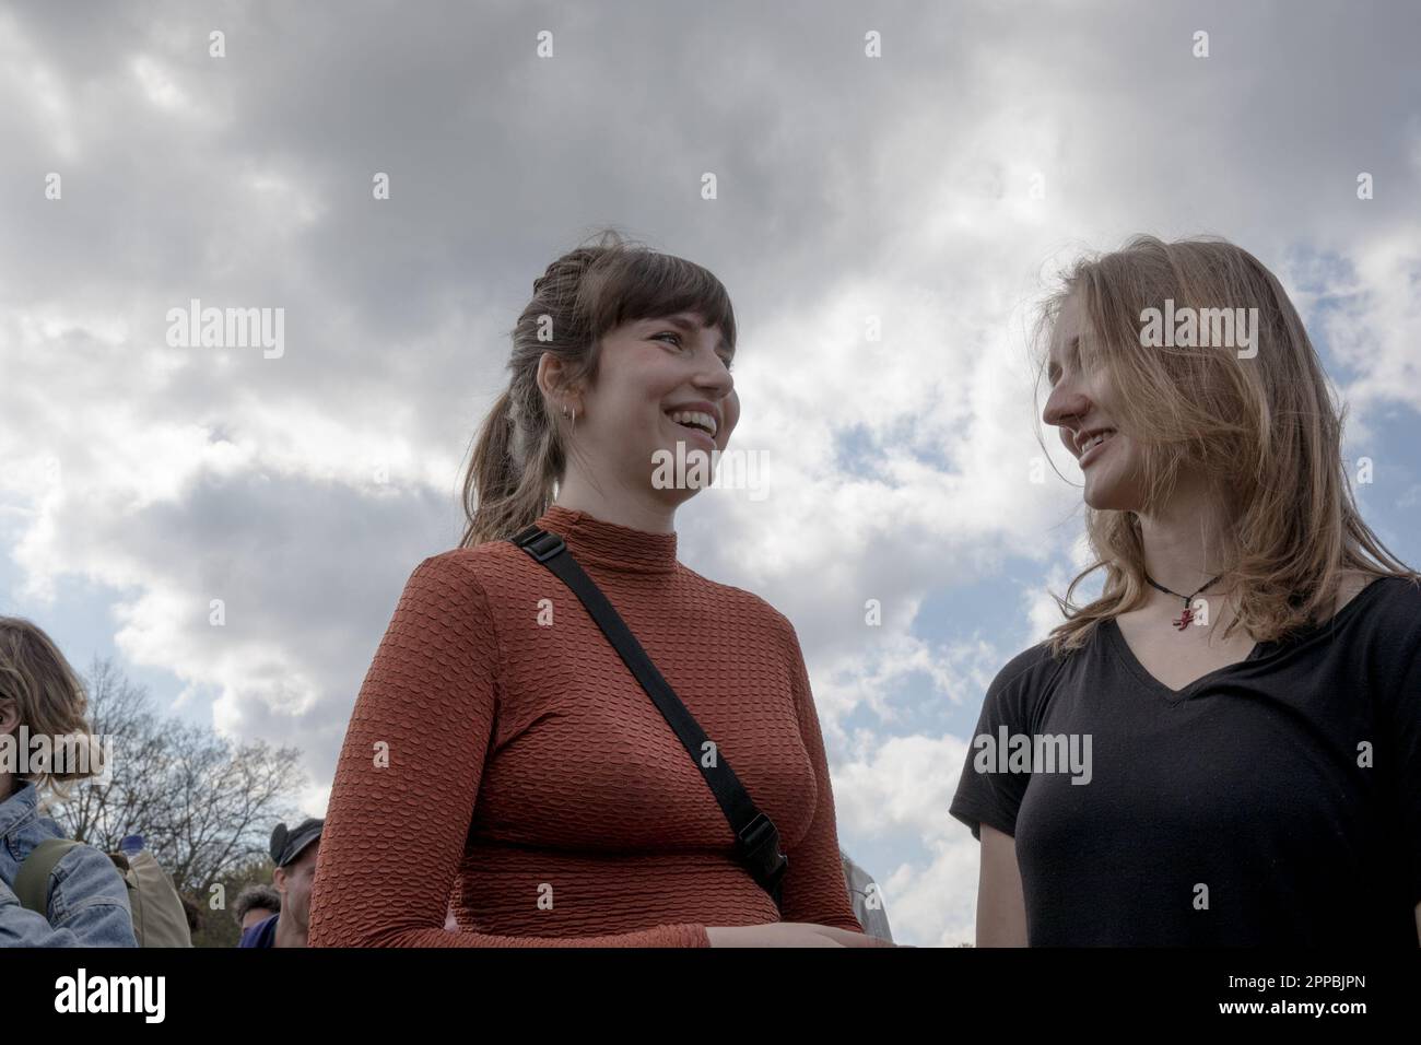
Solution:
[{"label": "laughing woman with ponytail and bangs in rust-red turtleneck top", "polygon": [[[735,316],[701,266],[607,235],[533,284],[465,483],[361,687],[311,900],[321,945],[868,945],[794,628],[676,557],[658,454],[723,451]],[[566,542],[779,829],[780,907],[578,599]],[[452,903],[458,930],[446,926]]]}]

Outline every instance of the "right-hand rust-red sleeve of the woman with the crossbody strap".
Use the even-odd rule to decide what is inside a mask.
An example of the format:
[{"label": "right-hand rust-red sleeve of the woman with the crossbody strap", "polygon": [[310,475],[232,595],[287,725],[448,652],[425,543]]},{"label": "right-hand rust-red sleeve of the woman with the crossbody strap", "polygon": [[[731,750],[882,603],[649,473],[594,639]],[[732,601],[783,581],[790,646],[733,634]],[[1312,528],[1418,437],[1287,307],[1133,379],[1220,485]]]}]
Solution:
[{"label": "right-hand rust-red sleeve of the woman with the crossbody strap", "polygon": [[786,653],[793,671],[794,711],[799,717],[800,738],[814,765],[817,783],[814,819],[809,832],[794,849],[786,850],[790,863],[782,881],[783,920],[863,933],[864,928],[854,917],[854,907],[848,899],[848,883],[844,880],[838,829],[834,823],[834,791],[828,779],[828,759],[824,755],[824,738],[818,727],[818,714],[814,711],[804,654],[794,626],[783,616],[780,620],[787,630]]}]

